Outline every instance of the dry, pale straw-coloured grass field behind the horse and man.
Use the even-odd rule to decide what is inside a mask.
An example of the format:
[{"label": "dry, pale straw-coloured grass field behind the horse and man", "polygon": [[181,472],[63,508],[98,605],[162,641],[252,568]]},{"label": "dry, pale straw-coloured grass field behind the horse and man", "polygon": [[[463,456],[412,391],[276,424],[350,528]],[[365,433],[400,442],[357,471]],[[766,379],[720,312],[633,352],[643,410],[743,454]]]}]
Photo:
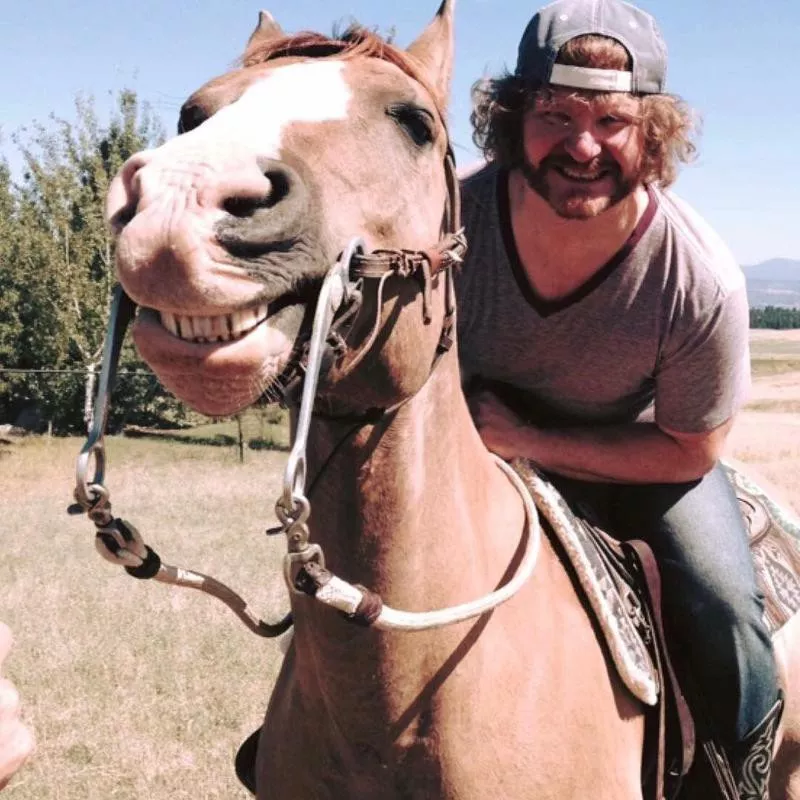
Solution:
[{"label": "dry, pale straw-coloured grass field behind the horse and man", "polygon": [[[755,360],[800,361],[800,332],[765,333]],[[798,403],[800,372],[760,373],[728,448],[796,504]],[[236,435],[194,433],[223,431]],[[39,742],[4,800],[244,800],[233,756],[263,717],[279,645],[218,601],[136,581],[95,553],[91,523],[65,513],[81,444],[0,446],[0,619],[17,637],[6,672]],[[247,450],[240,464],[235,447],[111,438],[106,483],[165,561],[214,575],[274,620],[283,542],[263,530],[285,457]]]}]

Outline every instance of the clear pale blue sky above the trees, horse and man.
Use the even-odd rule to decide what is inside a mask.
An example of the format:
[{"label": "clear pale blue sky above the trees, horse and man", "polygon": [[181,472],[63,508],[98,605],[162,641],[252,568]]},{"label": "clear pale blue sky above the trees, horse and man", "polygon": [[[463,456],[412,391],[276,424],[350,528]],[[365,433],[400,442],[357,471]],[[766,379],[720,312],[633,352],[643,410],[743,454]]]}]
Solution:
[{"label": "clear pale blue sky above the trees, horse and man", "polygon": [[[544,0],[542,0],[543,2]],[[261,0],[266,2],[266,0]],[[174,130],[182,101],[233,64],[258,18],[287,32],[330,33],[352,19],[407,46],[439,0],[0,0],[0,153],[19,173],[12,137],[49,115],[74,118],[76,95],[107,119],[134,89]],[[668,91],[702,117],[699,157],[675,191],[717,229],[743,265],[800,259],[798,0],[639,0],[669,49]],[[539,2],[458,0],[450,126],[459,165],[477,159],[470,86],[513,69]],[[800,275],[798,275],[800,278]]]}]

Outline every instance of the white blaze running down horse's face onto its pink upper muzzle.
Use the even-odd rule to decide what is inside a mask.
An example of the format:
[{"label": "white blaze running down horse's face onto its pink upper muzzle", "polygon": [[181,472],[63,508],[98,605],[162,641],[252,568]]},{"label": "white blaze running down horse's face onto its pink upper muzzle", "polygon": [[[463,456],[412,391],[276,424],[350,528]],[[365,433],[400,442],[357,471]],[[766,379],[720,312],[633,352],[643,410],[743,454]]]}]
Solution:
[{"label": "white blaze running down horse's face onto its pink upper muzzle", "polygon": [[353,93],[345,68],[337,60],[265,67],[238,99],[146,154],[127,185],[117,182],[109,208],[135,210],[118,240],[117,266],[141,305],[169,298],[173,312],[212,317],[257,302],[261,282],[231,263],[216,225],[227,200],[269,195],[261,162],[285,157],[293,125],[346,122]]}]

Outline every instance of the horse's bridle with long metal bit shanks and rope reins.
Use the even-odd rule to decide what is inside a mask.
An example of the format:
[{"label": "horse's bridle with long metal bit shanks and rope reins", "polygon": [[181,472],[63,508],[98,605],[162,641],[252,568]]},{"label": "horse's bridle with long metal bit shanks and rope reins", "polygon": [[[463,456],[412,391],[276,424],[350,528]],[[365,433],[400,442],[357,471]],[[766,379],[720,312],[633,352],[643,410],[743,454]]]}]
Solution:
[{"label": "horse's bridle with long metal bit shanks and rope reins", "polygon": [[[299,359],[281,376],[284,396],[301,393],[295,426],[295,438],[284,472],[283,491],[276,503],[280,531],[286,535],[284,578],[290,592],[306,594],[342,612],[348,619],[378,629],[425,630],[477,617],[508,600],[533,573],[538,558],[541,533],[538,515],[521,478],[504,461],[497,466],[523,499],[526,517],[524,553],[513,577],[493,592],[469,603],[429,612],[404,612],[383,604],[380,597],[362,586],[350,584],[325,567],[324,554],[318,544],[309,541],[308,519],[311,502],[306,495],[306,449],[308,433],[321,375],[333,363],[341,362],[349,353],[347,331],[361,308],[363,287],[377,281],[375,322],[364,343],[347,360],[347,372],[355,369],[372,348],[381,328],[381,306],[384,287],[391,277],[415,280],[422,292],[422,313],[426,324],[432,321],[431,295],[433,279],[444,274],[445,310],[442,331],[431,364],[431,373],[453,342],[455,296],[453,269],[466,251],[466,240],[460,227],[459,186],[452,151],[448,146],[445,158],[447,204],[444,231],[440,241],[430,250],[375,250],[364,252],[359,239],[351,241],[326,274],[317,299],[310,339]],[[70,510],[87,513],[95,525],[95,547],[100,554],[125,567],[133,577],[155,579],[164,583],[194,588],[209,593],[231,608],[255,633],[277,636],[292,624],[291,614],[277,623],[267,623],[253,615],[242,598],[224,584],[203,573],[174,567],[162,562],[148,547],[137,529],[111,513],[109,491],[104,484],[105,429],[122,342],[136,306],[121,286],[114,291],[103,362],[95,399],[95,417],[87,441],[78,456],[76,467],[76,506]],[[407,399],[402,401],[407,402]],[[396,411],[400,404],[381,409],[382,414]],[[94,468],[92,469],[92,464]]]}]

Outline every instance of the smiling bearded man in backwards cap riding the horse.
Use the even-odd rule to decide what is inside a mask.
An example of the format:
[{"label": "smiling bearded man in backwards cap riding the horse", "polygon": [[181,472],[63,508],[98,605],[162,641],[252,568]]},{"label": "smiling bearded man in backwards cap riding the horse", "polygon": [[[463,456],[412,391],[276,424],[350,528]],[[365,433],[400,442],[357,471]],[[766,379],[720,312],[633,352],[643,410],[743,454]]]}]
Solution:
[{"label": "smiling bearded man in backwards cap riding the horse", "polygon": [[484,387],[472,407],[487,447],[653,548],[701,733],[738,797],[760,800],[782,702],[717,465],[749,387],[747,298],[721,240],[666,191],[694,146],[665,76],[648,14],[557,0],[514,74],[476,85],[489,163],[462,187],[459,346],[467,391]]}]

